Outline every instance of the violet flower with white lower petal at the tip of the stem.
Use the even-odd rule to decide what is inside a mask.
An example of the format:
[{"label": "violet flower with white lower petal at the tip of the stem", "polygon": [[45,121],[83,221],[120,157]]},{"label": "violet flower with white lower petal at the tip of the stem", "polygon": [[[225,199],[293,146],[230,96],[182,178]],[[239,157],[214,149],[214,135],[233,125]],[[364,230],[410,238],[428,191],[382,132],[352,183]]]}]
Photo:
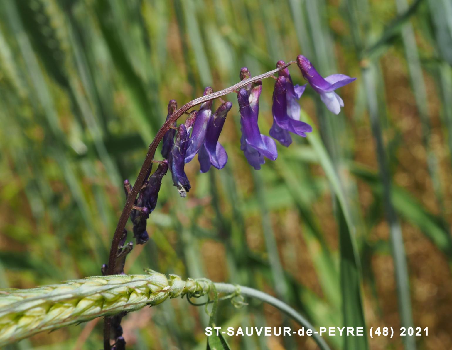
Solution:
[{"label": "violet flower with white lower petal at the tip of the stem", "polygon": [[320,99],[325,103],[326,108],[334,114],[339,114],[340,107],[344,107],[344,101],[334,90],[353,82],[356,78],[350,78],[344,74],[333,74],[323,78],[303,55],[297,57],[297,64],[303,77],[320,94]]}]

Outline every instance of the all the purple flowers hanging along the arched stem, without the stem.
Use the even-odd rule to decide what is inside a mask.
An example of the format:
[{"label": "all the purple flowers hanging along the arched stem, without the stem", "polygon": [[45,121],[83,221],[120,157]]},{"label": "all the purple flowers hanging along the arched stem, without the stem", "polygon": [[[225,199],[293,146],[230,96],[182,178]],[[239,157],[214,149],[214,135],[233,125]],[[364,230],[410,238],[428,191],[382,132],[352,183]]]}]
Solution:
[{"label": "all the purple flowers hanging along the arched stem, without the stem", "polygon": [[[344,101],[334,90],[353,82],[355,78],[344,74],[333,74],[323,78],[305,56],[299,55],[296,62],[303,77],[320,95],[321,101],[331,112],[339,114],[340,108],[344,106]],[[284,61],[278,61],[276,67],[278,77],[273,76],[275,85],[272,106],[273,124],[269,130],[270,136],[261,134],[258,125],[262,81],[251,79],[250,71],[242,68],[240,80],[245,84],[241,84],[241,88],[235,91],[240,113],[240,149],[244,152],[248,163],[256,170],[259,170],[265,163],[265,158],[274,161],[278,157],[275,140],[288,147],[292,143],[291,134],[306,137],[306,133],[312,131],[311,125],[300,120],[299,100],[307,84],[294,85]],[[265,77],[268,76],[272,75],[267,74]],[[250,83],[246,83],[247,79],[250,79]],[[204,90],[205,97],[212,93],[211,87]],[[215,112],[212,111],[213,98],[203,102],[198,111],[192,111],[188,115],[184,123],[178,126],[174,121],[165,133],[161,150],[161,155],[165,160],[155,161],[159,163],[159,166],[150,177],[148,174],[149,180],[145,182],[139,192],[130,216],[137,244],[143,244],[149,239],[146,220],[155,208],[161,180],[168,169],[171,171],[174,186],[177,187],[180,196],[185,197],[191,185],[184,167],[196,155],[198,155],[202,173],[207,172],[211,166],[222,169],[226,165],[227,153],[218,139],[232,103],[224,102],[221,98],[220,101],[221,105]],[[176,111],[178,111],[177,103],[175,100],[171,100],[168,104],[166,120],[169,120]],[[130,193],[132,187],[127,180],[124,186],[126,194]]]}]

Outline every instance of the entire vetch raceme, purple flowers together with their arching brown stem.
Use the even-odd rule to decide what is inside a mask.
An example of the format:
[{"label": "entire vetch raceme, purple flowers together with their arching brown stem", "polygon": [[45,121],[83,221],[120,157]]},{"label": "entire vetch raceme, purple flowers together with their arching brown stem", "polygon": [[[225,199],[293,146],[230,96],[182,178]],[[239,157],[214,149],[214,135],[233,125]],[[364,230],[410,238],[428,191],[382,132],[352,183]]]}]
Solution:
[{"label": "entire vetch raceme, purple flowers together with their arching brown stem", "polygon": [[[288,147],[292,143],[291,133],[306,137],[306,133],[312,131],[311,125],[300,120],[301,108],[299,100],[307,84],[302,86],[293,84],[287,67],[294,62],[291,61],[285,64],[284,61],[278,61],[276,69],[254,78],[251,77],[247,68],[242,68],[240,70],[240,80],[243,82],[241,83],[219,92],[213,92],[212,88],[207,87],[204,90],[203,97],[188,102],[179,110],[175,100],[171,100],[168,103],[166,120],[168,123],[171,121],[171,125],[169,126],[165,123],[149,146],[135,187],[132,188],[128,180],[124,181],[126,197],[131,196],[133,193],[134,198],[129,197],[127,199],[126,206],[115,230],[108,265],[104,264],[102,268],[103,273],[123,273],[125,258],[133,247],[132,242],[124,245],[127,239],[125,225],[129,212],[133,223],[133,235],[137,244],[144,244],[149,239],[146,222],[149,214],[155,209],[161,181],[168,169],[171,171],[173,184],[177,187],[180,196],[186,197],[191,185],[185,173],[185,164],[192,161],[197,154],[202,173],[210,170],[212,166],[217,169],[222,169],[226,166],[228,156],[218,139],[223,129],[226,115],[232,108],[232,103],[229,101],[224,102],[221,100],[221,96],[231,92],[237,93],[242,133],[240,149],[244,152],[248,163],[256,170],[259,170],[261,165],[265,163],[264,158],[274,161],[278,157],[274,139],[278,140],[283,146]],[[320,99],[327,108],[333,113],[339,114],[340,108],[344,107],[344,101],[334,90],[353,82],[355,78],[350,78],[344,74],[333,74],[323,78],[315,70],[311,62],[302,55],[297,57],[297,64],[303,77],[320,94]],[[278,73],[278,78],[273,75],[276,73]],[[275,78],[276,82],[273,91],[273,125],[269,130],[270,136],[267,136],[260,133],[258,117],[262,79],[269,77]],[[212,114],[213,100],[216,98],[220,99],[221,105]],[[200,103],[201,106],[198,111],[191,111],[183,124],[179,124],[179,126],[176,124],[179,117],[184,113],[188,113],[190,109]],[[169,129],[166,129],[168,127]],[[153,157],[160,141],[163,141],[161,155],[165,159],[163,161],[155,161]],[[158,163],[159,166],[151,175],[152,163]],[[136,186],[140,186],[140,188],[138,189]],[[156,292],[160,291],[162,291],[161,288]],[[118,312],[118,309],[115,309],[116,312]],[[113,349],[123,350],[125,340],[122,337],[120,326],[121,317],[113,318],[110,321],[105,323],[104,334],[110,334],[109,328],[110,326],[113,327],[113,330],[115,330],[113,334],[116,339]],[[2,334],[0,334],[0,338],[1,336]],[[18,336],[21,335],[19,334]],[[108,337],[106,338],[108,341]]]}]

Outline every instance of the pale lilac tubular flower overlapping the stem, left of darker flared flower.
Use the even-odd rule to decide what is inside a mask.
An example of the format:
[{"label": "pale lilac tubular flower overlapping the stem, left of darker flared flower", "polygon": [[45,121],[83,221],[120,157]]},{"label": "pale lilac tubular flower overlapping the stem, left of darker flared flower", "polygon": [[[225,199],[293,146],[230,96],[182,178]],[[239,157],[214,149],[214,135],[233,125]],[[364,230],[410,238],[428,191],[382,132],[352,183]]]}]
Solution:
[{"label": "pale lilac tubular flower overlapping the stem, left of darker flared flower", "polygon": [[[213,92],[211,87],[207,87],[204,90],[204,96]],[[188,139],[187,154],[185,155],[185,163],[191,161],[198,153],[201,146],[204,144],[206,138],[207,124],[212,115],[212,102],[207,101],[201,104],[196,120],[193,124],[193,130],[191,137]]]}]

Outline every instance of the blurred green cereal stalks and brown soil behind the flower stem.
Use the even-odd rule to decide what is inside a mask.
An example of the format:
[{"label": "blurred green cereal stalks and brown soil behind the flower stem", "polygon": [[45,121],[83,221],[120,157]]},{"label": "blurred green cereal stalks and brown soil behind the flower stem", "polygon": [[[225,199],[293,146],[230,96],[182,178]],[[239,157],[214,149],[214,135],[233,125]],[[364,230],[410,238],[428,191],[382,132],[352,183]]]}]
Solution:
[{"label": "blurred green cereal stalks and brown soil behind the flower stem", "polygon": [[[99,275],[166,105],[306,55],[358,80],[340,115],[312,89],[314,132],[254,171],[234,103],[229,161],[179,198],[170,175],[126,272],[151,267],[264,290],[316,326],[394,327],[327,337],[332,349],[452,348],[450,0],[3,0],[0,3],[0,286]],[[305,83],[296,66],[294,83]],[[259,125],[272,122],[264,81]],[[215,108],[218,102],[214,104]],[[309,117],[308,117],[309,116]],[[130,223],[127,224],[129,231]],[[406,256],[405,256],[406,253]],[[249,301],[217,323],[297,326]],[[129,349],[204,349],[204,309],[172,300],[123,319]],[[102,322],[9,349],[100,349]],[[400,337],[401,325],[428,336]],[[306,337],[228,338],[232,349],[316,349]]]}]

